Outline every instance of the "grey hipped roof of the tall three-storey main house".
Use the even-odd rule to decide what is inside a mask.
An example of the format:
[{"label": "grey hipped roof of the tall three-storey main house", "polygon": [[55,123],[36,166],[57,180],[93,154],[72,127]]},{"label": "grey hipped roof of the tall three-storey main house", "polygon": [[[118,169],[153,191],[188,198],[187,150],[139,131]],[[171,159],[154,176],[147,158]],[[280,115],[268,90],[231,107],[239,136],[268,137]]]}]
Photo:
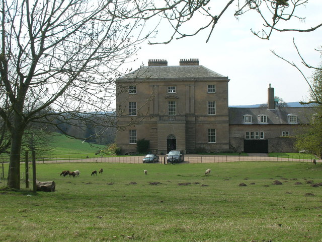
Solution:
[{"label": "grey hipped roof of the tall three-storey main house", "polygon": [[[204,66],[150,66],[141,67],[118,81],[126,79],[225,79],[228,77],[205,68]],[[228,80],[229,81],[229,80]]]}]

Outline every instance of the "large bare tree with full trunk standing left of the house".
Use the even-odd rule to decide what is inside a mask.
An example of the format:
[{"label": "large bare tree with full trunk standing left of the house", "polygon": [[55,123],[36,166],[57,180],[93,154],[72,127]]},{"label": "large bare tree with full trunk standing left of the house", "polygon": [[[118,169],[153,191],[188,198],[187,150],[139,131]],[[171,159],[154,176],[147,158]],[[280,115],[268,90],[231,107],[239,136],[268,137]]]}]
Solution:
[{"label": "large bare tree with full trunk standing left of the house", "polygon": [[100,123],[104,128],[96,135],[116,126],[113,80],[150,34],[143,34],[142,18],[124,18],[145,5],[131,2],[2,1],[0,116],[11,138],[9,188],[20,189],[20,153],[30,123],[39,129]]}]

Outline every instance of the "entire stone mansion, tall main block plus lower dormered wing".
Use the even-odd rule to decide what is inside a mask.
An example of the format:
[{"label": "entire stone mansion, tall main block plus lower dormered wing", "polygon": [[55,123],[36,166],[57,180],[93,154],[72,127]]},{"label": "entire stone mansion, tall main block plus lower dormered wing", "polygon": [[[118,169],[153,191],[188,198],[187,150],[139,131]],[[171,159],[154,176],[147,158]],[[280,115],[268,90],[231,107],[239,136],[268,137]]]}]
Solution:
[{"label": "entire stone mansion, tall main block plus lower dormered wing", "polygon": [[293,151],[294,140],[285,137],[309,123],[307,108],[279,107],[270,86],[268,108],[228,108],[228,82],[198,59],[181,59],[179,66],[149,60],[116,80],[118,126],[124,127],[117,145],[122,153],[135,153],[139,139],[158,154]]}]

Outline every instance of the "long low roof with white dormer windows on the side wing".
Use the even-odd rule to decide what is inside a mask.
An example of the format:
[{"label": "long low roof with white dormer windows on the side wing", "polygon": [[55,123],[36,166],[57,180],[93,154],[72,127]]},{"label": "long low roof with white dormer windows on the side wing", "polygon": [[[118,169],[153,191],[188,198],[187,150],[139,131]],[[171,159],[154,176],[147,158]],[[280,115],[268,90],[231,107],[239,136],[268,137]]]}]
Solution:
[{"label": "long low roof with white dormer windows on the side wing", "polygon": [[288,114],[297,116],[297,124],[309,124],[311,122],[314,109],[309,107],[280,107],[278,109],[267,109],[267,107],[229,107],[229,124],[244,125],[244,115],[252,115],[252,124],[260,124],[258,116],[267,116],[269,125],[287,125]]}]

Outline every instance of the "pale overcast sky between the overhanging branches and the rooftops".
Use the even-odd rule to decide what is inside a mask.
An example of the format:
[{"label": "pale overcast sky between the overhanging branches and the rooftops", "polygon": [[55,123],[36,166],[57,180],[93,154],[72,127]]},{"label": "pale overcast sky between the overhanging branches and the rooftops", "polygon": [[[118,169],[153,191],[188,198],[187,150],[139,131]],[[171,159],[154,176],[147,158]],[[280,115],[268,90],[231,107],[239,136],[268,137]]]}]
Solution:
[{"label": "pale overcast sky between the overhanging branches and the rooftops", "polygon": [[[322,1],[310,1],[301,8],[301,15],[306,16],[305,22],[296,20],[294,24],[303,27],[317,25],[321,22],[321,10]],[[251,28],[261,30],[261,24],[258,16],[245,15],[236,20],[230,12],[220,19],[208,43],[206,31],[167,45],[144,45],[138,52],[137,64],[147,65],[148,59],[166,59],[169,66],[178,66],[181,58],[198,58],[200,65],[230,79],[229,105],[266,103],[269,84],[275,88],[275,96],[286,102],[307,100],[308,85],[304,79],[270,50],[299,63],[293,46],[294,37],[307,63],[319,65],[320,56],[314,48],[322,45],[322,27],[312,33],[274,32],[270,40],[262,40],[250,31]],[[160,36],[166,33],[163,31],[167,30],[160,31],[160,41]],[[304,71],[306,76],[312,73],[311,70]]]}]

